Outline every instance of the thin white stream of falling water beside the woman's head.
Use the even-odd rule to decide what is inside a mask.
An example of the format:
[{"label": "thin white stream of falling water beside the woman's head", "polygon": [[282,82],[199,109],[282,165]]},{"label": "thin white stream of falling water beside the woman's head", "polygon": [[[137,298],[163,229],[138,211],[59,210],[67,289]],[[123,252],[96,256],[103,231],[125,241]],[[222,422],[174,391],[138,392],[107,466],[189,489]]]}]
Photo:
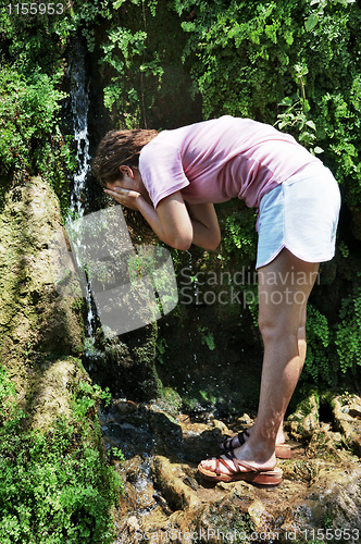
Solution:
[{"label": "thin white stream of falling water beside the woman's head", "polygon": [[[69,67],[69,76],[71,82],[70,95],[77,158],[77,171],[73,177],[73,190],[71,194],[70,219],[78,219],[83,218],[85,213],[87,203],[86,182],[90,166],[88,134],[89,81],[85,63],[85,49],[79,41],[74,45],[73,58]],[[89,284],[87,285],[86,293],[86,356],[88,356],[94,351],[95,344],[95,313],[91,305],[91,290]]]}]

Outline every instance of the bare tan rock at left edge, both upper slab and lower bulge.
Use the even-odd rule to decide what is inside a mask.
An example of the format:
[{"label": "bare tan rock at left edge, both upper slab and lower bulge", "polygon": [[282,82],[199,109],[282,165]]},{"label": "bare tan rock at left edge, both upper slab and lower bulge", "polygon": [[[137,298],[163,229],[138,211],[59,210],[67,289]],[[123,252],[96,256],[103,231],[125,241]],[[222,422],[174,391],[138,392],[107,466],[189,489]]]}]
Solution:
[{"label": "bare tan rock at left edge, both upper slab and lower bulge", "polygon": [[40,177],[2,187],[0,211],[0,359],[34,428],[69,413],[69,387],[83,351],[82,313],[54,288],[48,244],[61,214]]}]

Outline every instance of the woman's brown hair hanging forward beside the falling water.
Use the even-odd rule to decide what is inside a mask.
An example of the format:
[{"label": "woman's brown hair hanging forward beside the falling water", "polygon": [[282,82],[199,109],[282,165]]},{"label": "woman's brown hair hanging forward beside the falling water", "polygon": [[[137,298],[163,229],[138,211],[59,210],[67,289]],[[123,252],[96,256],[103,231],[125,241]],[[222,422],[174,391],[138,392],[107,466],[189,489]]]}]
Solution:
[{"label": "woman's brown hair hanging forward beside the falling water", "polygon": [[110,131],[98,146],[92,171],[100,185],[113,183],[121,176],[122,164],[138,168],[141,149],[158,135],[157,131],[135,128],[133,131]]}]

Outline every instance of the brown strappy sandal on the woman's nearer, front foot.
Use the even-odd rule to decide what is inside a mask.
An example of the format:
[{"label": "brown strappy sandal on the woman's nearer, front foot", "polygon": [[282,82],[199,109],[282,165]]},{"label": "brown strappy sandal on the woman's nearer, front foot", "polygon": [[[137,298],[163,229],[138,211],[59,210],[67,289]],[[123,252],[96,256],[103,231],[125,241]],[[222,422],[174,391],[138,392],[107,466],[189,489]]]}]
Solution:
[{"label": "brown strappy sandal on the woman's nearer, front foot", "polygon": [[[278,467],[273,470],[261,470],[251,467],[246,461],[239,461],[233,455],[227,452],[224,454],[234,465],[234,468],[229,467],[221,457],[215,459],[215,471],[204,469],[201,463],[198,465],[198,470],[204,480],[210,482],[237,482],[242,480],[244,482],[254,483],[258,485],[278,485],[282,482],[283,472]],[[231,470],[231,474],[224,474],[221,471],[222,465]],[[246,468],[247,472],[244,472],[239,467]]]}]

